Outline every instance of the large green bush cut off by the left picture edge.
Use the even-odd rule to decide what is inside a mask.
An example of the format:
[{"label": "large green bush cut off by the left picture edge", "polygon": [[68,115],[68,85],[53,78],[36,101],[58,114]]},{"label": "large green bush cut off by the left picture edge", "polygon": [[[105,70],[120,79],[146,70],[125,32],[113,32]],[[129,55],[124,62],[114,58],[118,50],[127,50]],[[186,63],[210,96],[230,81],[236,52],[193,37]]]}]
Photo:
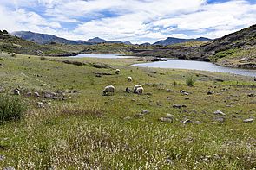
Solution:
[{"label": "large green bush cut off by the left picture edge", "polygon": [[26,104],[16,96],[0,95],[0,123],[19,120],[27,110]]}]

